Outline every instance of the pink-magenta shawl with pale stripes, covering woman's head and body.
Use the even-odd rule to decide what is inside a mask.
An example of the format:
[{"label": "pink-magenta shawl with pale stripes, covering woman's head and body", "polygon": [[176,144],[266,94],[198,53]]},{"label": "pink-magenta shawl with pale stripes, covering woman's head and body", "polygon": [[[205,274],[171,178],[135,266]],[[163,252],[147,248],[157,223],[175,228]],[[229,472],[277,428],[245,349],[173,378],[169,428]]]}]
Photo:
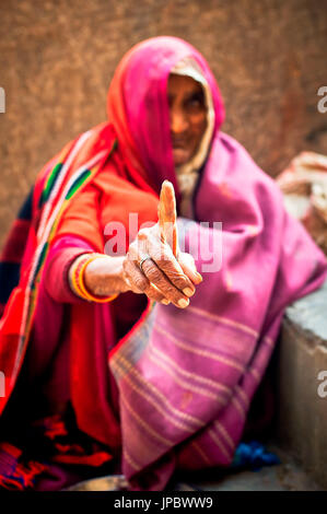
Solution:
[{"label": "pink-magenta shawl with pale stripes, covering woman's head and body", "polygon": [[[166,83],[186,56],[209,83],[215,128],[195,198],[196,223],[188,227],[180,220],[179,227],[186,227],[186,250],[200,234],[209,235],[211,248],[222,249],[222,266],[213,271],[207,262],[206,271],[199,256],[203,283],[190,306],[149,305],[110,353],[119,388],[122,470],[135,489],[162,489],[176,467],[232,462],[284,308],[318,288],[327,269],[323,253],[284,211],[273,180],[219,130],[223,106],[208,65],[173,37],[141,43],[125,58],[122,73],[120,68],[130,133],[149,176],[157,186],[171,179],[178,198]],[[116,84],[114,78],[109,114]],[[124,143],[122,128],[116,129]],[[218,221],[222,234],[213,229]]]}]

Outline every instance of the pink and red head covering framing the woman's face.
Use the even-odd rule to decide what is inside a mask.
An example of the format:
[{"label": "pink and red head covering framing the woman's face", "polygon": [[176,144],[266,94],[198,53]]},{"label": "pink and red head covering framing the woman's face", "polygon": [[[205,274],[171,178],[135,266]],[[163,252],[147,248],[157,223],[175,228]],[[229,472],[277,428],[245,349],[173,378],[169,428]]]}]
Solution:
[{"label": "pink and red head covering framing the woman's face", "polygon": [[107,102],[109,120],[116,128],[126,156],[138,164],[137,167],[145,170],[156,189],[168,178],[174,184],[177,199],[167,78],[177,62],[189,57],[199,66],[212,94],[214,138],[224,119],[219,87],[199,51],[177,37],[153,37],[133,46],[115,72]]}]

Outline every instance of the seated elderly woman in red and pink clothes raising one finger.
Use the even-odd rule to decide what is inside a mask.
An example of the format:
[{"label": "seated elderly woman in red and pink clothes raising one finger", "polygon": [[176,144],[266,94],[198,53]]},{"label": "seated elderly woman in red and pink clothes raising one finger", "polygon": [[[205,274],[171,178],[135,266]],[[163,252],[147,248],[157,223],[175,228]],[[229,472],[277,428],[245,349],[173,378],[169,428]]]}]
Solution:
[{"label": "seated elderly woman in red and pink clothes raising one finger", "polygon": [[2,487],[122,471],[160,490],[176,469],[229,466],[285,306],[326,278],[220,130],[189,44],[136,45],[107,105],[43,168],[3,250]]}]

